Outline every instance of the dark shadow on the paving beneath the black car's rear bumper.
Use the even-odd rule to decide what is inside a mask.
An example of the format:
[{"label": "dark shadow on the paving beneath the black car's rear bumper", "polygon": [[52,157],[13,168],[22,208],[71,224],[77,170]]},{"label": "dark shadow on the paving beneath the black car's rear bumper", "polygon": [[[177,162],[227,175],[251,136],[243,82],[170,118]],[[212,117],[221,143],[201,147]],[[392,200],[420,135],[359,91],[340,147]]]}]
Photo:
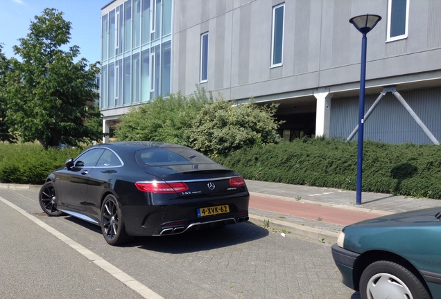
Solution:
[{"label": "dark shadow on the paving beneath the black car's rear bumper", "polygon": [[127,246],[137,246],[148,251],[182,254],[251,242],[266,237],[268,234],[265,228],[247,221],[223,228],[203,229],[180,235],[137,237]]}]

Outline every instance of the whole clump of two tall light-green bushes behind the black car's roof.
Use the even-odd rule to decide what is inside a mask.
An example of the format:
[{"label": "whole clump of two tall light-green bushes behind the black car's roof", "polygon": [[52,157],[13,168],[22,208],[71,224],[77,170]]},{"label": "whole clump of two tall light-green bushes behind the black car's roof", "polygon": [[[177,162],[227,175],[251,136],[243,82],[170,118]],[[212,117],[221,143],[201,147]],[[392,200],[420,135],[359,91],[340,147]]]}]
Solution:
[{"label": "whole clump of two tall light-green bushes behind the black car's roof", "polygon": [[190,96],[181,93],[158,97],[132,107],[119,118],[118,141],[162,141],[187,145],[217,156],[255,144],[277,143],[277,105],[258,106],[252,102],[233,105],[221,96],[198,89]]}]

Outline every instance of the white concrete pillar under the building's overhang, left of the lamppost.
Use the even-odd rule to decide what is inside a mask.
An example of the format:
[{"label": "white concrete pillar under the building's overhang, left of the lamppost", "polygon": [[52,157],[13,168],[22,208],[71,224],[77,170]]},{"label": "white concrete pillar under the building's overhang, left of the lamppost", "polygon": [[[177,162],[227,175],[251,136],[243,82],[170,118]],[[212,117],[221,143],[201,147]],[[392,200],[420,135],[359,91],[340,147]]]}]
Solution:
[{"label": "white concrete pillar under the building's overhang, left of the lamppost", "polygon": [[329,91],[314,92],[317,99],[317,109],[315,111],[315,137],[325,136],[329,138],[329,128],[331,126],[331,98]]}]

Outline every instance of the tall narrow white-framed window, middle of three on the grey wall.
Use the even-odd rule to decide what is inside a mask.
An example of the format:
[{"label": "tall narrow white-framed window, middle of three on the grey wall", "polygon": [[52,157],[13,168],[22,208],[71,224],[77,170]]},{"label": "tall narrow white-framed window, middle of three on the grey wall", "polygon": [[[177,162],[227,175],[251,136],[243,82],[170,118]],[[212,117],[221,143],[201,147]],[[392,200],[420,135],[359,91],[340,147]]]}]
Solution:
[{"label": "tall narrow white-framed window, middle of three on the grey wall", "polygon": [[285,3],[273,7],[273,40],[271,42],[271,66],[282,65],[284,48]]}]

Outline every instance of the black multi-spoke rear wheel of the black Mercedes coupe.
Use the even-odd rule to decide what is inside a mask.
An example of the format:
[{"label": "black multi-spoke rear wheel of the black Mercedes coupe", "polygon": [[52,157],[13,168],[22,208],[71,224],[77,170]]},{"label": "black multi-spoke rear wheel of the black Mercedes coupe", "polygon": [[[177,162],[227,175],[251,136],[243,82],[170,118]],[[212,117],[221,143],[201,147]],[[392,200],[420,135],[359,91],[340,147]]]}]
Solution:
[{"label": "black multi-spoke rear wheel of the black Mercedes coupe", "polygon": [[101,231],[105,241],[112,246],[119,246],[130,240],[119,203],[111,194],[105,197],[101,206]]}]

